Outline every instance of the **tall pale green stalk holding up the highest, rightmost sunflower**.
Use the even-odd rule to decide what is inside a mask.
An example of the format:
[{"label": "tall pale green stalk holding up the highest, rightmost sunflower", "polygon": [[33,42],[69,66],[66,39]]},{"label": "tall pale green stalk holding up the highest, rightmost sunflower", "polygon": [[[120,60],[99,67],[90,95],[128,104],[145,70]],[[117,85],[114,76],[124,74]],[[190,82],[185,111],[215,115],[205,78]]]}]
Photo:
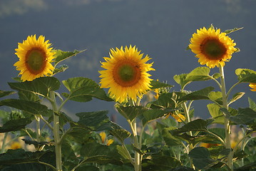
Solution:
[{"label": "tall pale green stalk holding up the highest, rightmost sunflower", "polygon": [[[225,87],[225,76],[224,76],[224,69],[222,66],[219,66],[220,68],[220,83],[221,83],[221,92],[222,92],[222,105],[223,108],[226,108],[228,110],[227,105],[227,94],[226,94],[226,87]],[[225,125],[225,143],[226,148],[231,150],[231,142],[230,142],[230,120],[227,119],[225,115],[224,120]],[[232,162],[232,152],[227,156],[227,166],[230,167],[230,170],[233,171],[233,162]]]}]

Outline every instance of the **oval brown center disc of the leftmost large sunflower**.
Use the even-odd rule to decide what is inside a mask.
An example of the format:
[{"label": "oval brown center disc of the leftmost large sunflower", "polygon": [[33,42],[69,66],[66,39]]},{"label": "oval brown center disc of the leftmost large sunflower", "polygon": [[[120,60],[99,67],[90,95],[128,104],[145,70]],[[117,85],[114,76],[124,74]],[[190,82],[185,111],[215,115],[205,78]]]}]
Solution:
[{"label": "oval brown center disc of the leftmost large sunflower", "polygon": [[39,74],[46,67],[46,53],[41,48],[31,48],[26,53],[26,68],[33,74]]}]

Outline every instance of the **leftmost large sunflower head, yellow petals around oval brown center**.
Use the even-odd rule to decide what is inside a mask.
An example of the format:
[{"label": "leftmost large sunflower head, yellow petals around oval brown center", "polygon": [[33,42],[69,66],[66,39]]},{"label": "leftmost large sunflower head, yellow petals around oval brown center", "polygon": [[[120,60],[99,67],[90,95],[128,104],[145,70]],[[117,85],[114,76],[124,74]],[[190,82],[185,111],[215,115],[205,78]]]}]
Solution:
[{"label": "leftmost large sunflower head, yellow petals around oval brown center", "polygon": [[55,53],[51,51],[50,46],[51,43],[44,41],[44,36],[39,36],[36,40],[36,35],[28,36],[23,43],[18,43],[15,54],[19,61],[14,63],[14,66],[20,71],[21,81],[33,81],[53,74],[54,67],[51,62]]}]

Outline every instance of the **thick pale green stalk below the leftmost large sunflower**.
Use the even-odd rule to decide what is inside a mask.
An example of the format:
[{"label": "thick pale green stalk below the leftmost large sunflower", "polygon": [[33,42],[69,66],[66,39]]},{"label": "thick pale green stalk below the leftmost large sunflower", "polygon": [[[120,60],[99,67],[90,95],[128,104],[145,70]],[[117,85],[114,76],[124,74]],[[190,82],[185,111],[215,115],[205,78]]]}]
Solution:
[{"label": "thick pale green stalk below the leftmost large sunflower", "polygon": [[51,105],[53,107],[53,137],[55,143],[55,154],[56,154],[56,169],[57,171],[62,171],[62,160],[61,160],[61,141],[59,135],[59,120],[58,120],[58,110],[56,105],[56,98],[54,91],[50,92]]}]

